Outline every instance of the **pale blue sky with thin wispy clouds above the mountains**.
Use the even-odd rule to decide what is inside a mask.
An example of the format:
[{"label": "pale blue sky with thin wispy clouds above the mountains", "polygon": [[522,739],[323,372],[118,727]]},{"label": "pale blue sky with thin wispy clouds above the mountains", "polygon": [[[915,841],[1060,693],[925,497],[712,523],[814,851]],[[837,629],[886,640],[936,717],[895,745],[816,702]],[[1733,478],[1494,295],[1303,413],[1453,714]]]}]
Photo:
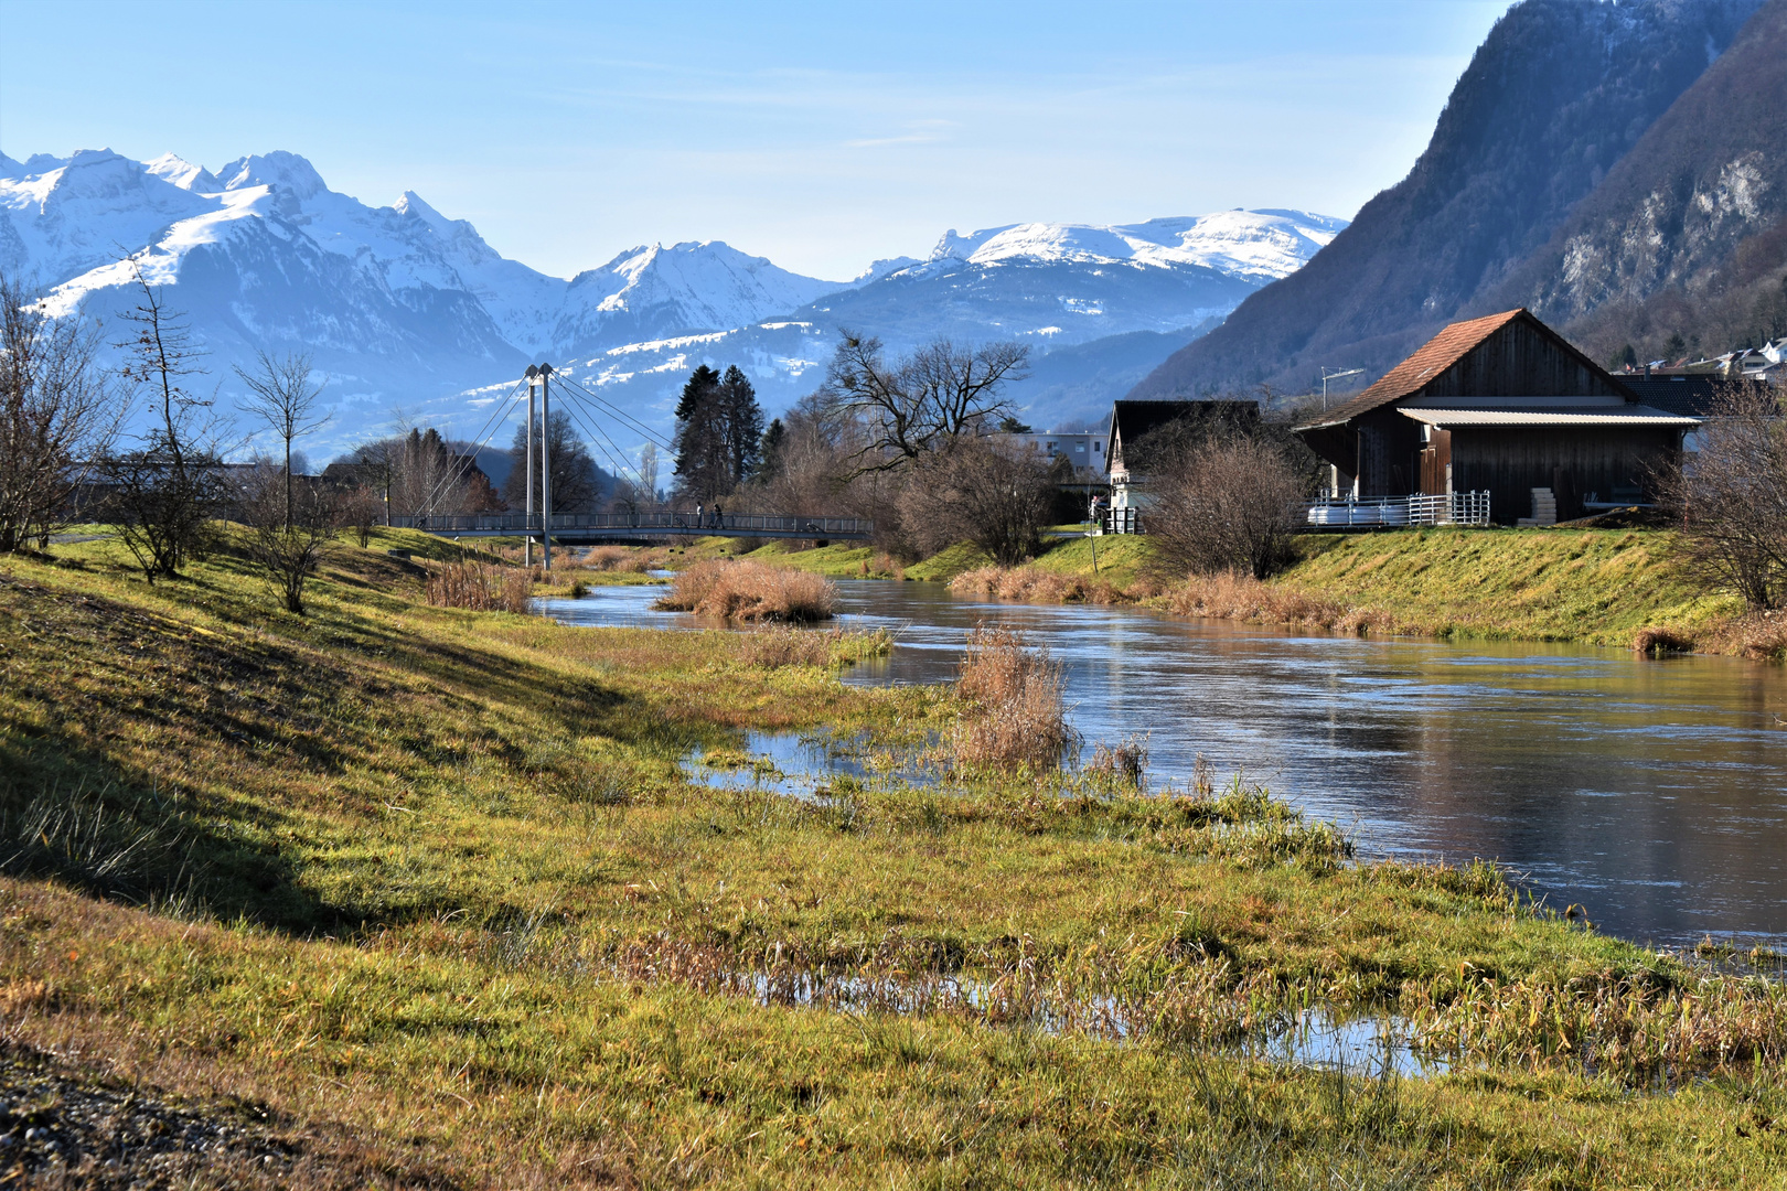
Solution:
[{"label": "pale blue sky with thin wispy clouds above the mountains", "polygon": [[1506,0],[0,0],[0,150],[275,148],[570,277],[724,239],[842,280],[947,230],[1351,218]]}]

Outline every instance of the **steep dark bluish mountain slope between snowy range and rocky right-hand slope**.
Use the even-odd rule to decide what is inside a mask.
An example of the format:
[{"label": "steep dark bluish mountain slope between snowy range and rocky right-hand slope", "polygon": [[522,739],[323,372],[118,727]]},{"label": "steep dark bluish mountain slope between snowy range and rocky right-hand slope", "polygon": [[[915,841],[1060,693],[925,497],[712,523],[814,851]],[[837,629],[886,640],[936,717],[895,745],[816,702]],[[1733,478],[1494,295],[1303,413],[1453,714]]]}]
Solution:
[{"label": "steep dark bluish mountain slope between snowy range and rocky right-hand slope", "polygon": [[1735,39],[1758,0],[1524,0],[1496,21],[1408,177],[1303,270],[1131,396],[1381,373],[1544,248]]}]

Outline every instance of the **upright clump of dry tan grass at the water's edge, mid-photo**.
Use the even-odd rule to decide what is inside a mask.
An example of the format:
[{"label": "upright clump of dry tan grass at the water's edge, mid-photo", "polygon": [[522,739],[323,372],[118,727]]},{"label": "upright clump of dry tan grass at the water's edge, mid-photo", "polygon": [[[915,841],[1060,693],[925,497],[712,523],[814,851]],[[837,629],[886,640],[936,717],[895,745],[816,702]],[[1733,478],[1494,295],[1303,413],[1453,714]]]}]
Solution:
[{"label": "upright clump of dry tan grass at the water's edge, mid-photo", "polygon": [[1074,743],[1061,700],[1061,664],[1015,629],[981,625],[969,636],[956,695],[956,764],[969,770],[1047,771]]}]

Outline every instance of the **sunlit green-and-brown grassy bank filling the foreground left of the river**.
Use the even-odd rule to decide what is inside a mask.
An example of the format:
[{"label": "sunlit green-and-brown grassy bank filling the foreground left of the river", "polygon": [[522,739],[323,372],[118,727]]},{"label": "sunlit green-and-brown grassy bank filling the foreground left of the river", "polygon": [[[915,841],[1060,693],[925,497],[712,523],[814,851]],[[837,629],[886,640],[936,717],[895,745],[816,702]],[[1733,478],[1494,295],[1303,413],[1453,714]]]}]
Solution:
[{"label": "sunlit green-and-brown grassy bank filling the foreground left of the river", "polygon": [[[322,1155],[197,1186],[1782,1182],[1780,986],[1135,741],[1056,771],[1020,639],[847,687],[885,645],[436,607],[457,552],[375,541],[420,562],[343,546],[307,618],[229,548],[0,570],[0,1059]],[[747,729],[936,780],[690,779]],[[1453,1068],[1237,1050],[1308,1012]]]}]

